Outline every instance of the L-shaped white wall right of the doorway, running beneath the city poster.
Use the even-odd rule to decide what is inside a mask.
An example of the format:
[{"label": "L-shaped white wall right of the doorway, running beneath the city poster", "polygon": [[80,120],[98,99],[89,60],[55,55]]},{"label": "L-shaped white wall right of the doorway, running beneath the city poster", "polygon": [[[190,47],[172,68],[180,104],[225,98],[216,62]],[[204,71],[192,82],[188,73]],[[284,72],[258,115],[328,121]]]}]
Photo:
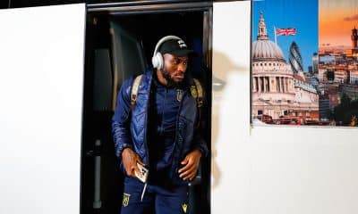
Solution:
[{"label": "L-shaped white wall right of the doorway, running beneath the city poster", "polygon": [[358,129],[251,128],[250,4],[214,4],[212,213],[358,213]]}]

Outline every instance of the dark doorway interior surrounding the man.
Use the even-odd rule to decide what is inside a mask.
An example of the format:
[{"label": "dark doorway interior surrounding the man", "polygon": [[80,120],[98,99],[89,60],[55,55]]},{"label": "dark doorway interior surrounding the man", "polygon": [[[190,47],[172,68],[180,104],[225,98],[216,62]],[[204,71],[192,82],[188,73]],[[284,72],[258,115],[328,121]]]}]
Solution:
[{"label": "dark doorway interior surrounding the man", "polygon": [[[151,63],[158,40],[182,37],[198,56],[189,70],[205,88],[204,132],[210,148],[211,65],[208,8],[194,11],[88,12],[81,157],[81,214],[120,213],[124,177],[119,172],[111,134],[111,117],[118,88],[125,78],[141,74]],[[97,142],[97,143],[96,143]],[[209,149],[210,150],[210,149]],[[100,157],[100,182],[95,160]],[[210,157],[202,160],[200,175],[191,185],[190,213],[210,213]],[[97,169],[98,170],[98,169]],[[95,183],[100,194],[95,196]],[[101,203],[95,202],[99,201]],[[97,199],[96,199],[97,198]],[[200,210],[200,211],[199,211]]]}]

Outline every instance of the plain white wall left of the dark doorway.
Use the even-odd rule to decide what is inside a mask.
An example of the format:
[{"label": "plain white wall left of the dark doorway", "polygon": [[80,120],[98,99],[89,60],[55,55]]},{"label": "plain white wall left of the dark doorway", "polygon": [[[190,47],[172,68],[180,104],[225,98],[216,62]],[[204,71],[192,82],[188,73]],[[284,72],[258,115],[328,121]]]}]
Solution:
[{"label": "plain white wall left of the dark doorway", "polygon": [[0,10],[0,213],[80,211],[84,4]]}]

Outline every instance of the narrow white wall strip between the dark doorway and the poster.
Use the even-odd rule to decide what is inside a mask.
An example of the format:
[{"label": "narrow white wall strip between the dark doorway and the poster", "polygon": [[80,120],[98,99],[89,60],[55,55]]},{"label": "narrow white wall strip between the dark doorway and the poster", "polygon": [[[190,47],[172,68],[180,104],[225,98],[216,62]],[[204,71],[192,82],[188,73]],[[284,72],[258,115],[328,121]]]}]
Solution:
[{"label": "narrow white wall strip between the dark doorway and the poster", "polygon": [[249,213],[250,2],[216,3],[213,10],[213,213]]}]

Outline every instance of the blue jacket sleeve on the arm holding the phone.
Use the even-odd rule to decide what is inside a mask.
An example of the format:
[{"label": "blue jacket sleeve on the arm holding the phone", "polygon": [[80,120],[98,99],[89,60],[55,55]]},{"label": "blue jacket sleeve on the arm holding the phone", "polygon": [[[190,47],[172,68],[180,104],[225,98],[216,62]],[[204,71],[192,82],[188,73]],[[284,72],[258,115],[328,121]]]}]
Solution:
[{"label": "blue jacket sleeve on the arm holding the phone", "polygon": [[131,136],[131,89],[133,78],[124,81],[117,95],[115,114],[112,118],[112,135],[115,143],[115,155],[122,159],[125,148],[132,148]]}]

